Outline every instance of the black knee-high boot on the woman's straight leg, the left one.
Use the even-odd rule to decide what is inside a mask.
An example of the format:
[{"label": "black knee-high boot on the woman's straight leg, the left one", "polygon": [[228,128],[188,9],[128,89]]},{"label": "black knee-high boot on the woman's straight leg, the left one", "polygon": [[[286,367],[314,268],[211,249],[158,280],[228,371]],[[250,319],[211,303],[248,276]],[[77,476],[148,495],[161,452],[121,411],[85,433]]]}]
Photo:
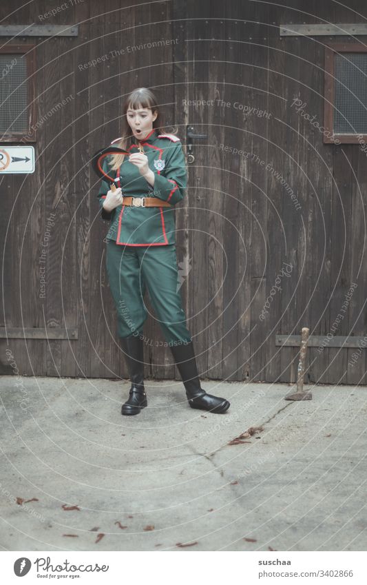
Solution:
[{"label": "black knee-high boot on the woman's straight leg, the left one", "polygon": [[123,350],[127,355],[132,387],[129,398],[121,408],[122,414],[138,414],[147,406],[147,395],[144,388],[144,345],[140,336],[121,338]]}]

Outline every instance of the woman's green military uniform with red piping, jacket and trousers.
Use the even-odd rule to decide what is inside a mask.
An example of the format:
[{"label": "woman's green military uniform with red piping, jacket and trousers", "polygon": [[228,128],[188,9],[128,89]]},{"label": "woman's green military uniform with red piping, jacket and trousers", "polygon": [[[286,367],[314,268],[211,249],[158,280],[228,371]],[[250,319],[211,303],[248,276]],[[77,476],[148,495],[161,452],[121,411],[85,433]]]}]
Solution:
[{"label": "woman's green military uniform with red piping, jacket and trousers", "polygon": [[[133,137],[127,150],[140,152],[137,143]],[[158,197],[175,205],[185,196],[187,187],[185,155],[179,138],[158,134],[153,129],[140,144],[147,155],[149,169],[155,174],[154,187],[127,157],[116,172],[116,185],[121,187],[123,196]],[[115,172],[107,164],[109,157],[106,159],[103,169],[114,176]],[[109,183],[103,180],[98,198],[101,216],[110,223],[106,265],[118,312],[118,336],[143,335],[147,318],[143,298],[148,289],[155,316],[169,345],[190,342],[178,289],[174,209],[122,203],[112,212],[106,212],[102,205],[109,189]]]}]

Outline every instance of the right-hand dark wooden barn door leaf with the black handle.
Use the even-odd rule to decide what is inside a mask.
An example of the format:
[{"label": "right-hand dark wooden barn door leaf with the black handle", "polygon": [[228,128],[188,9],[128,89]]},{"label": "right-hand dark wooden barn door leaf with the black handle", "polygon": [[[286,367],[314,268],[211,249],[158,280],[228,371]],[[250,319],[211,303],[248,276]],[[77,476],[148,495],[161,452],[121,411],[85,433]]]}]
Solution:
[{"label": "right-hand dark wooden barn door leaf with the black handle", "polygon": [[[348,21],[340,6],[311,4],[321,21]],[[174,48],[176,119],[182,134],[185,124],[207,135],[193,138],[178,238],[191,263],[183,288],[200,372],[210,378],[295,382],[299,347],[280,338],[302,327],[330,336],[360,271],[365,155],[324,144],[309,121],[323,125],[330,39],[280,36],[280,23],[302,23],[304,6],[174,2],[174,37],[183,39]],[[292,107],[295,96],[308,117]],[[307,381],[364,380],[364,353],[350,367],[353,342],[342,343],[365,334],[365,289],[359,283],[349,320],[337,325],[339,345],[320,352],[313,338]]]}]

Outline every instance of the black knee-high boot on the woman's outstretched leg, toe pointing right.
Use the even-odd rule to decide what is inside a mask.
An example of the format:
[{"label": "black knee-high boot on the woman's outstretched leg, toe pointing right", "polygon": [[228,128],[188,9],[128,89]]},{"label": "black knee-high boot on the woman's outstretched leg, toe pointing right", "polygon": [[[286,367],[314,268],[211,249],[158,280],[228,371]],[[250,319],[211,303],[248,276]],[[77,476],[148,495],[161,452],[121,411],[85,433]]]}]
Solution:
[{"label": "black knee-high boot on the woman's outstretched leg, toe pointing right", "polygon": [[227,411],[230,407],[228,400],[207,394],[200,387],[192,341],[187,344],[171,345],[170,347],[182,382],[185,385],[186,396],[187,400],[189,400],[190,407],[218,414]]}]

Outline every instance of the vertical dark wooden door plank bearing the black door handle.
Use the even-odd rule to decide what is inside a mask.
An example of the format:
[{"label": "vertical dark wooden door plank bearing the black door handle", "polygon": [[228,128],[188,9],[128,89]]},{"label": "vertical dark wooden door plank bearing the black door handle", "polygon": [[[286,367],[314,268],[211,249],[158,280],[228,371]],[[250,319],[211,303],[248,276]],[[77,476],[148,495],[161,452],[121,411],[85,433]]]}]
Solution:
[{"label": "vertical dark wooden door plank bearing the black door handle", "polygon": [[[189,21],[187,30],[189,39],[187,45],[188,62],[186,65],[186,99],[193,100],[207,99],[208,92],[213,90],[209,81],[209,43],[202,39],[210,36],[212,23],[206,22],[205,15],[209,13],[212,5],[210,2],[198,3],[195,9],[195,18],[191,12],[191,6],[187,7]],[[203,23],[206,24],[203,27]],[[215,80],[213,80],[215,82]],[[215,131],[209,127],[209,112],[206,107],[198,105],[187,105],[187,122],[193,126],[194,132],[207,134],[203,141],[194,141],[193,152],[194,162],[189,165],[189,189],[188,196],[188,229],[189,229],[189,258],[191,260],[191,271],[187,278],[187,290],[190,299],[188,315],[188,326],[193,338],[193,346],[196,349],[196,359],[200,376],[206,378],[209,368],[209,263],[213,254],[213,247],[210,246],[210,234],[208,229],[207,209],[212,204],[213,193],[209,188],[211,185],[209,170],[211,161],[211,148],[215,142]],[[186,138],[186,137],[185,137]],[[205,250],[205,254],[198,253],[198,250]],[[211,285],[210,285],[211,288]],[[214,365],[214,362],[213,364]]]}]

